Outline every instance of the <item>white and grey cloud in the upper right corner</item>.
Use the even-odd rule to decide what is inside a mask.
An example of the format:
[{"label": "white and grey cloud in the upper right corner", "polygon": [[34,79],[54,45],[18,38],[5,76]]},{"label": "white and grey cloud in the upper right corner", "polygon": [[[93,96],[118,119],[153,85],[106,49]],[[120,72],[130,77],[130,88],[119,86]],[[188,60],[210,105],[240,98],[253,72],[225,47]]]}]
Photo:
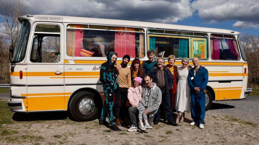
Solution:
[{"label": "white and grey cloud in the upper right corner", "polygon": [[240,28],[258,28],[258,0],[195,0],[192,8],[205,22],[238,21],[233,24]]}]

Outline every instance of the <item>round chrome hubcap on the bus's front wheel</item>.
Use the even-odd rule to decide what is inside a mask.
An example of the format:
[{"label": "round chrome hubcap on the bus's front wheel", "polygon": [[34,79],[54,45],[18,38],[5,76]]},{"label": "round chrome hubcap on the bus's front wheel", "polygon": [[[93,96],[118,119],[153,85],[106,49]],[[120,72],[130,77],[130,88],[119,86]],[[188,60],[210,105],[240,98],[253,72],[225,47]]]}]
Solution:
[{"label": "round chrome hubcap on the bus's front wheel", "polygon": [[80,101],[78,108],[83,115],[89,115],[94,111],[95,104],[92,99],[84,98]]}]

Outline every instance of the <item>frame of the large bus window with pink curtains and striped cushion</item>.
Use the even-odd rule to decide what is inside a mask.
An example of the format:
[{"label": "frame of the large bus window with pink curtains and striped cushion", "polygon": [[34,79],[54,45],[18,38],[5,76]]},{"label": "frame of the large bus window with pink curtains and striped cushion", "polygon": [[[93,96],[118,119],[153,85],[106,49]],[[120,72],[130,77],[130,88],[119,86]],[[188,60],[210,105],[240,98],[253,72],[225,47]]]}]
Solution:
[{"label": "frame of the large bus window with pink curtains and striped cushion", "polygon": [[[64,23],[63,23],[64,24]],[[88,28],[70,28],[70,27],[67,27],[69,24],[76,24],[76,25],[88,25]],[[132,27],[132,26],[129,26],[128,28],[139,28],[139,29],[143,29],[143,32],[138,32],[138,31],[127,31],[127,26],[122,26],[122,25],[103,25],[103,26],[114,26],[114,27],[125,27],[126,30],[107,30],[107,29],[91,29],[89,28],[89,25],[103,25],[103,24],[92,24],[92,23],[66,23],[64,24],[64,28],[65,28],[65,31],[66,31],[66,35],[65,35],[65,39],[67,40],[67,29],[79,29],[79,30],[99,30],[99,31],[115,31],[115,32],[130,32],[130,33],[142,33],[144,34],[144,56],[143,57],[137,57],[138,59],[144,59],[146,57],[146,46],[145,46],[145,42],[147,41],[146,40],[146,36],[145,36],[145,28],[141,28],[141,27]],[[94,59],[94,60],[107,60],[106,57],[78,57],[78,56],[69,56],[67,54],[67,41],[66,41],[66,44],[65,44],[65,47],[66,49],[64,50],[65,51],[65,54],[66,54],[66,57],[67,58],[80,58],[80,59]],[[122,57],[118,57],[117,60],[119,60],[119,58],[122,58]],[[132,57],[133,58],[133,57]]]}]

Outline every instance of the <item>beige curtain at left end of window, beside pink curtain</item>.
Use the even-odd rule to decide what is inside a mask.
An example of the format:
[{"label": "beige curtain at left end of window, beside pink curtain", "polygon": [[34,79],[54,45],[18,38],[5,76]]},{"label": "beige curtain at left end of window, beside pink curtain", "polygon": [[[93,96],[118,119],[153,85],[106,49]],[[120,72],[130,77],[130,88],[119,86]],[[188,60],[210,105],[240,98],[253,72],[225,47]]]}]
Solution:
[{"label": "beige curtain at left end of window, beside pink curtain", "polygon": [[67,55],[75,55],[75,36],[76,30],[67,29]]}]

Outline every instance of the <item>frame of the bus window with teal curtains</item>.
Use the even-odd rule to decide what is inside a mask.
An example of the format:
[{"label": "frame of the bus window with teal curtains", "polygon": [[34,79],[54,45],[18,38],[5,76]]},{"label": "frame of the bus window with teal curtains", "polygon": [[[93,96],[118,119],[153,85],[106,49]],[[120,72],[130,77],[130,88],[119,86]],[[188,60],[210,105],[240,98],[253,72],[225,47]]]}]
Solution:
[{"label": "frame of the bus window with teal curtains", "polygon": [[[180,31],[180,32],[192,32],[193,34],[194,33],[203,33],[203,34],[206,34],[207,36],[196,36],[196,35],[181,35],[181,34],[168,34],[168,33],[165,33],[165,30],[167,30],[167,29],[156,29],[156,30],[164,30],[164,33],[153,33],[153,32],[149,32],[149,30],[150,29],[156,29],[156,28],[148,28],[147,29],[147,51],[148,50],[150,50],[149,49],[149,36],[150,35],[164,35],[164,36],[180,36],[180,37],[189,37],[188,39],[189,39],[189,42],[190,42],[190,38],[191,37],[197,37],[197,38],[207,38],[207,42],[206,42],[206,44],[207,44],[207,53],[208,53],[208,56],[207,56],[207,59],[199,59],[199,60],[209,60],[210,59],[210,46],[209,46],[209,34],[210,33],[205,33],[205,32],[196,32],[196,31]],[[168,30],[168,31],[170,31],[170,30]],[[179,30],[171,30],[171,31],[179,31]],[[193,40],[192,40],[193,41]],[[190,44],[191,44],[191,42],[189,43],[189,57],[191,56],[191,55],[193,55],[193,53],[192,54],[190,54],[190,49],[192,49],[192,48],[190,48]],[[163,58],[163,59],[168,59],[167,57],[156,57],[156,58]],[[192,58],[188,58],[189,60],[191,60]],[[182,58],[175,58],[175,60],[182,60]]]}]

